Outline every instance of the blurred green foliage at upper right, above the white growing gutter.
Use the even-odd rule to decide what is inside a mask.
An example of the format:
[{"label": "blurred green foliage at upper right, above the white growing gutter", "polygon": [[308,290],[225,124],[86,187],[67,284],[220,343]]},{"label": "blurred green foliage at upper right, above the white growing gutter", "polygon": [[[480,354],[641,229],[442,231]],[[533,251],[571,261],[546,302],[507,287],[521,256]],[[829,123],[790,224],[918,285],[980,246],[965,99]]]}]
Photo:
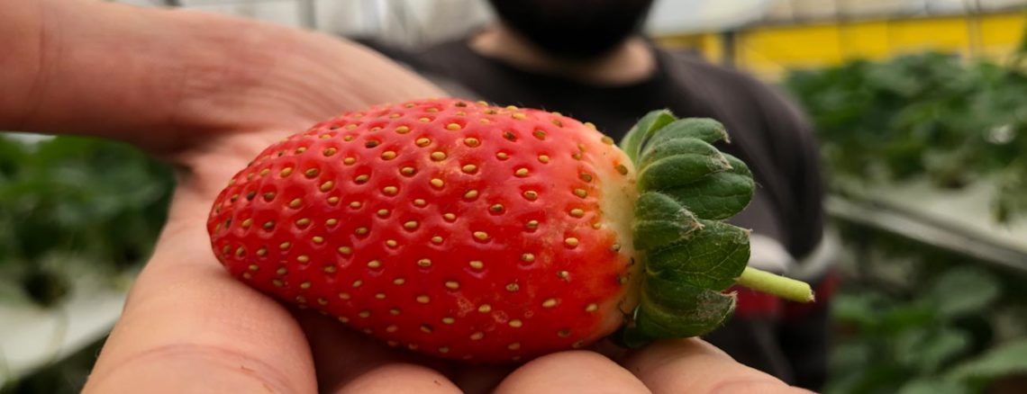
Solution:
[{"label": "blurred green foliage at upper right, above the white growing gutter", "polygon": [[833,175],[943,189],[987,179],[996,220],[1027,211],[1027,73],[1012,64],[926,52],[796,71],[785,85]]}]

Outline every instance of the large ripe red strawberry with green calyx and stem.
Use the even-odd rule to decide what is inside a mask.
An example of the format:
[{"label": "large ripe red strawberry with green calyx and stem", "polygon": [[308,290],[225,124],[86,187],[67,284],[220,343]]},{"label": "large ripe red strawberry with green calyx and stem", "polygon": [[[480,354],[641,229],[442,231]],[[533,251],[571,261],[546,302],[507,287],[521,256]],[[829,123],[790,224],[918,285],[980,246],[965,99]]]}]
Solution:
[{"label": "large ripe red strawberry with green calyx and stem", "polygon": [[665,111],[621,150],[558,113],[377,106],[267,148],[207,230],[251,286],[445,358],[517,361],[618,328],[627,345],[696,336],[729,316],[736,280],[795,289],[746,269],[748,232],[720,222],[753,191],[723,139]]}]

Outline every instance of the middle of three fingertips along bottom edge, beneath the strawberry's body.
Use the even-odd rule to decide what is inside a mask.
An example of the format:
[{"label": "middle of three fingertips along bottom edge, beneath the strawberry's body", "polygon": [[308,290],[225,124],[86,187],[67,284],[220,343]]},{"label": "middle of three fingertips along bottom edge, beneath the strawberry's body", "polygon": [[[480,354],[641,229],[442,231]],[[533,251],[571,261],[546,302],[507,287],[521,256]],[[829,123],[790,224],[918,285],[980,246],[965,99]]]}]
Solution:
[{"label": "middle of three fingertips along bottom edge, beneath the strawberry's body", "polygon": [[631,372],[599,353],[570,351],[529,361],[503,380],[495,392],[630,394],[649,390]]}]

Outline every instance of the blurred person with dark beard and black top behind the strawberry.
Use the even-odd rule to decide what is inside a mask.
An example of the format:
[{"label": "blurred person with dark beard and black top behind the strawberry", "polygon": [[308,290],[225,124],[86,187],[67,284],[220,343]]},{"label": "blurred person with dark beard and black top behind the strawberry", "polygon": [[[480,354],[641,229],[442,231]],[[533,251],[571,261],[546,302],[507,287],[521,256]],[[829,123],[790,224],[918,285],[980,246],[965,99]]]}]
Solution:
[{"label": "blurred person with dark beard and black top behind the strawberry", "polygon": [[817,146],[803,115],[749,76],[654,46],[641,33],[652,0],[490,3],[498,21],[467,37],[384,52],[443,86],[592,121],[617,141],[655,108],[723,122],[731,144],[719,148],[749,163],[759,186],[731,221],[753,229],[750,265],[813,283],[819,302],[735,288],[734,318],[707,340],[786,382],[821,388],[834,276]]}]

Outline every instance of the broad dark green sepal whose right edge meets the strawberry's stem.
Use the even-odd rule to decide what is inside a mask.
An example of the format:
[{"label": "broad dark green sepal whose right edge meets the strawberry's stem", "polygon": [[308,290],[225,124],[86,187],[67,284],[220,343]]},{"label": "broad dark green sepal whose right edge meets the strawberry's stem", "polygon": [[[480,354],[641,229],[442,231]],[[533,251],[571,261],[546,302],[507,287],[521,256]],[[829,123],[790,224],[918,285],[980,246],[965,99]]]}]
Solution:
[{"label": "broad dark green sepal whose right edge meets the strawberry's stem", "polygon": [[741,275],[749,263],[749,232],[723,222],[700,222],[685,242],[651,251],[646,272],[664,280],[721,290]]}]

